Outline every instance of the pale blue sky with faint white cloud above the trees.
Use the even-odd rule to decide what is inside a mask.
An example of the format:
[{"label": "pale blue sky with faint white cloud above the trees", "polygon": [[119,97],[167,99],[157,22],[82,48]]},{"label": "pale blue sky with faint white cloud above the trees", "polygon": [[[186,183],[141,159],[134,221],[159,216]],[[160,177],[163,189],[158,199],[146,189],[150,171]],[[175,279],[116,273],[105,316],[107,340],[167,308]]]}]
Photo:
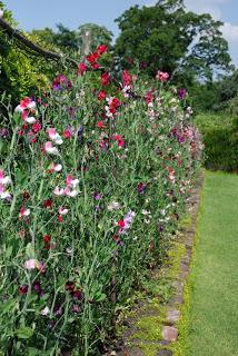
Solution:
[{"label": "pale blue sky with faint white cloud above the trees", "polygon": [[[135,4],[152,6],[153,0],[3,0],[12,10],[19,28],[30,31],[63,23],[70,29],[93,22],[105,26],[117,37],[117,19]],[[238,67],[238,0],[185,0],[188,10],[210,13],[225,24],[222,33],[229,43],[234,63]]]}]

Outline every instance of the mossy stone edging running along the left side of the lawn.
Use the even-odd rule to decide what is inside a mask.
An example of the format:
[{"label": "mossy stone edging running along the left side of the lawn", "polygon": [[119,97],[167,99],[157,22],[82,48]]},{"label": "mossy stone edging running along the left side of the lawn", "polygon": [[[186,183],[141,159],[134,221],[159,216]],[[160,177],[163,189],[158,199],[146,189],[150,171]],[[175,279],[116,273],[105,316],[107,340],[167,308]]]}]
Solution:
[{"label": "mossy stone edging running along the left side of the lawn", "polygon": [[[188,201],[188,209],[189,216],[191,218],[191,222],[189,224],[188,228],[182,229],[182,235],[185,236],[184,245],[186,248],[185,256],[180,259],[180,267],[179,273],[173,281],[173,294],[171,299],[165,306],[166,315],[162,318],[162,329],[161,329],[161,337],[158,338],[157,342],[147,342],[142,340],[140,345],[129,345],[130,344],[130,336],[135,332],[133,322],[129,322],[129,328],[125,333],[122,340],[120,343],[120,350],[109,353],[107,355],[110,356],[147,356],[152,355],[152,353],[143,353],[143,347],[158,347],[158,352],[155,352],[153,355],[156,356],[172,356],[173,353],[170,349],[169,345],[177,342],[178,339],[178,328],[176,324],[179,322],[180,315],[180,307],[184,304],[184,293],[186,281],[189,275],[191,256],[192,256],[192,248],[195,244],[195,235],[196,235],[196,225],[197,225],[197,216],[199,210],[200,204],[200,191],[204,184],[204,174],[200,175],[196,187],[191,191],[191,198]],[[140,313],[140,312],[139,312]],[[147,313],[148,315],[148,313]],[[149,310],[150,317],[153,316],[153,309],[150,307]],[[155,318],[159,318],[159,310],[155,310]],[[162,348],[166,347],[166,348]],[[167,348],[168,347],[168,348]]]}]

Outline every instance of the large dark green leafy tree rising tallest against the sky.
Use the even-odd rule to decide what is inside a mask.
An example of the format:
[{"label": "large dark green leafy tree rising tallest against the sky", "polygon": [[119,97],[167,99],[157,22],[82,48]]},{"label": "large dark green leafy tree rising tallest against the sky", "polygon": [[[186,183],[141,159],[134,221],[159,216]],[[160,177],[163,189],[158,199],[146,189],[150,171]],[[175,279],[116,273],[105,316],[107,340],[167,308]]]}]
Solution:
[{"label": "large dark green leafy tree rising tallest against the sky", "polygon": [[177,81],[199,77],[212,80],[230,65],[222,22],[210,14],[187,12],[184,0],[160,0],[153,7],[130,8],[119,17],[115,51],[123,66],[138,60],[149,75],[160,69]]}]

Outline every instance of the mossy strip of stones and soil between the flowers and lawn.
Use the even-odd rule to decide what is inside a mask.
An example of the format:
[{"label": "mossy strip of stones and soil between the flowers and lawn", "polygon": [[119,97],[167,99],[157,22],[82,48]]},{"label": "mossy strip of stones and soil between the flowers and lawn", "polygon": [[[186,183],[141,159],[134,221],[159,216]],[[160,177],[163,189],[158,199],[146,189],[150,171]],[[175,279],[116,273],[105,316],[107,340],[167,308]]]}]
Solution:
[{"label": "mossy strip of stones and soil between the flowers and lawn", "polygon": [[[180,267],[173,281],[172,297],[165,305],[166,314],[161,316],[160,308],[155,307],[155,304],[142,301],[139,309],[135,313],[138,317],[141,316],[141,309],[146,307],[146,315],[155,318],[153,327],[158,326],[155,330],[161,337],[155,340],[147,340],[137,338],[132,339],[136,332],[135,318],[129,320],[127,329],[123,333],[121,339],[118,342],[117,350],[107,354],[107,356],[173,356],[173,345],[178,340],[179,330],[177,324],[181,320],[181,307],[185,303],[185,287],[190,273],[192,250],[196,239],[197,218],[200,207],[201,188],[204,185],[205,174],[201,171],[195,187],[191,190],[191,196],[188,199],[188,211],[190,217],[190,224],[187,227],[179,229],[179,234],[182,234],[185,245],[185,255],[180,258]],[[169,267],[168,267],[169,268]],[[152,325],[151,325],[152,326]],[[161,328],[161,329],[160,329]],[[145,330],[145,334],[147,330]],[[149,333],[149,332],[148,332]]]}]

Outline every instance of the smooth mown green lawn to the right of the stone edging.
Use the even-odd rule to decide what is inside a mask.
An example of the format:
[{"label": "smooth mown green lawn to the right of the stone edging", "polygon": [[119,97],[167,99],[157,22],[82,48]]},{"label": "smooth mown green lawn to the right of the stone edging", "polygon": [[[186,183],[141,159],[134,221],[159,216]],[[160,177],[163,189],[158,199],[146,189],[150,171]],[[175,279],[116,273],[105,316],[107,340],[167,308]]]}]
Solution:
[{"label": "smooth mown green lawn to the right of the stone edging", "polygon": [[191,273],[189,356],[238,355],[238,176],[206,172]]}]

